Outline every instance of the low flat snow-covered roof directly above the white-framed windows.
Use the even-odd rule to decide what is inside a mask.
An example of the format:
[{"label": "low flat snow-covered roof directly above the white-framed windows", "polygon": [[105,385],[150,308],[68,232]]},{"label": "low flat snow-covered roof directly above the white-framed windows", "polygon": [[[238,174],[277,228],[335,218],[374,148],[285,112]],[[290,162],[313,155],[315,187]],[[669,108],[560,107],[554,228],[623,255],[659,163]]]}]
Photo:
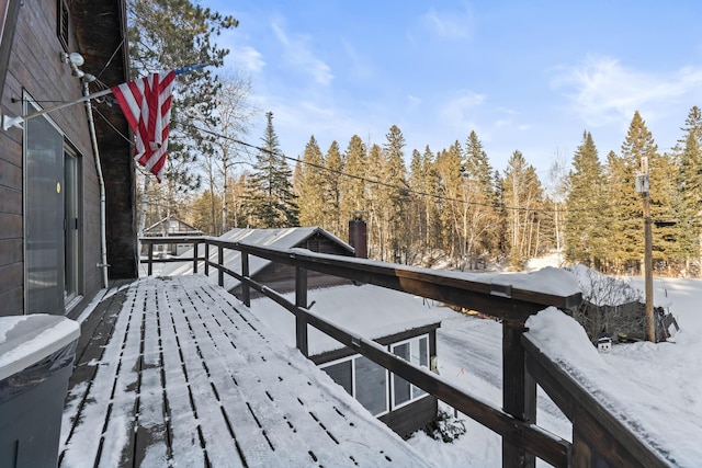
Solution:
[{"label": "low flat snow-covered roof directly above the white-framed windows", "polygon": [[[294,293],[283,296],[295,301]],[[307,297],[309,303],[315,301],[310,311],[371,340],[420,327],[438,326],[440,322],[430,301],[380,286],[347,285],[312,289]],[[280,334],[284,343],[295,346],[295,316],[265,297],[252,299],[250,310]],[[313,327],[309,327],[308,344],[310,356],[342,347],[339,342]]]}]

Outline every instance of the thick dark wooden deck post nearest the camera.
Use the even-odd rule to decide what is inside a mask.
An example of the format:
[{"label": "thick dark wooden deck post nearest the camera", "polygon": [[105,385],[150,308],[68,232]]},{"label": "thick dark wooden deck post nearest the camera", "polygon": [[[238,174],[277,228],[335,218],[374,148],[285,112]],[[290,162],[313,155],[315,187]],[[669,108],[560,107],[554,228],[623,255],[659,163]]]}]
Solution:
[{"label": "thick dark wooden deck post nearest the camera", "polygon": [[[520,421],[536,423],[536,381],[526,372],[521,342],[524,324],[502,321],[502,407]],[[523,447],[502,440],[503,468],[534,468],[536,459]]]}]

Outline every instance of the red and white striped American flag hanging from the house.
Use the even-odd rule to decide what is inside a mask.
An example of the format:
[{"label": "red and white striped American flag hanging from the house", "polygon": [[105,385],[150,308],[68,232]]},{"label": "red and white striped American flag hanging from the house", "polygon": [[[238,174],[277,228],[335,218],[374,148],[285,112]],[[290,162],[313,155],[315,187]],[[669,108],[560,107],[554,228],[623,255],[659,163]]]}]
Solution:
[{"label": "red and white striped American flag hanging from the house", "polygon": [[171,93],[176,71],[149,75],[112,88],[136,136],[134,159],[161,181],[166,168]]}]

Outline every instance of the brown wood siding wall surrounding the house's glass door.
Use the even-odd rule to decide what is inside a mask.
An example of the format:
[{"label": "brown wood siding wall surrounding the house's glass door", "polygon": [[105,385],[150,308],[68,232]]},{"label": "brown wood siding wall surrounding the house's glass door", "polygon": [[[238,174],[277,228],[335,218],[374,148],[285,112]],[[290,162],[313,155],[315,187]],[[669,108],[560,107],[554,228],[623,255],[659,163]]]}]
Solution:
[{"label": "brown wood siding wall surrounding the house's glass door", "polygon": [[[56,0],[25,0],[20,8],[0,103],[4,115],[22,114],[23,90],[44,107],[81,95],[80,81],[60,60],[64,48],[56,35]],[[77,50],[76,37],[71,35],[69,41],[69,46]],[[100,260],[100,238],[95,228],[99,227],[95,163],[86,110],[83,105],[73,105],[49,116],[80,156],[84,242],[81,293],[90,295],[99,286],[95,265]],[[0,316],[24,311],[22,138],[19,128],[0,132]]]}]

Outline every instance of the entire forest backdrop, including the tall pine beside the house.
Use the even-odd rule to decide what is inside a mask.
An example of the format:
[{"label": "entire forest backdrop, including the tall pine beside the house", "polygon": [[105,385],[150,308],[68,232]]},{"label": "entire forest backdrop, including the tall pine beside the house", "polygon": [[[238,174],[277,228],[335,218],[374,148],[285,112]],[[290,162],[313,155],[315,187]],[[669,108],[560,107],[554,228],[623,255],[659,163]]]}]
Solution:
[{"label": "entire forest backdrop, including the tall pine beside the house", "polygon": [[[227,50],[214,39],[236,27],[236,19],[188,0],[132,0],[128,19],[133,71],[213,64],[179,79],[168,173],[160,184],[141,173],[139,232],[181,219],[211,236],[237,227],[320,226],[348,239],[348,221],[362,217],[372,259],[520,270],[530,258],[558,251],[568,263],[637,274],[644,216],[635,179],[646,168],[657,274],[700,274],[702,112],[695,105],[670,150],[658,150],[635,112],[619,152],[601,158],[585,130],[573,155],[554,160],[547,180],[518,149],[506,168],[494,168],[472,130],[441,149],[408,148],[396,125],[380,144],[351,135],[320,148],[312,135],[292,158],[281,151],[274,115],[249,99],[250,78],[222,68]],[[261,118],[263,135],[248,142],[251,123]]]}]

